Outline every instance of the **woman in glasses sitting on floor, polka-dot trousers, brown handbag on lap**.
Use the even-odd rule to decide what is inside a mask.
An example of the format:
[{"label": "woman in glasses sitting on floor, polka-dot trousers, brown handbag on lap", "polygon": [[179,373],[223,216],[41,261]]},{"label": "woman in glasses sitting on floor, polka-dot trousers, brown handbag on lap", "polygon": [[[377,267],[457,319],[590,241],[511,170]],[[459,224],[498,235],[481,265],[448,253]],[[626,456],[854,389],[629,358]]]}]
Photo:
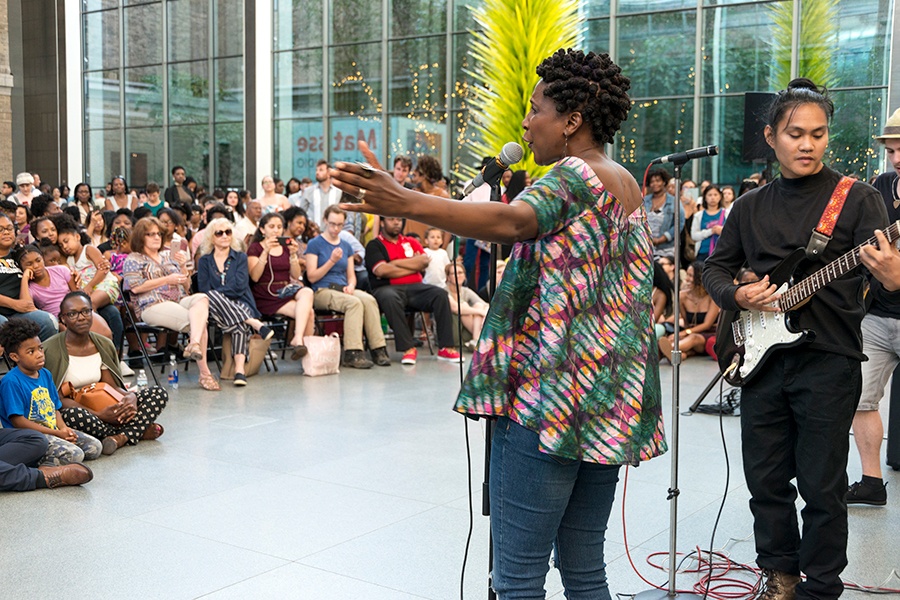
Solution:
[{"label": "woman in glasses sitting on floor, polka-dot trousers, brown handbag on lap", "polygon": [[59,320],[66,330],[44,342],[44,355],[66,423],[101,440],[103,454],[161,436],[163,427],[155,421],[168,394],[156,386],[125,390],[115,346],[91,332],[91,297],[80,290],[66,294]]}]

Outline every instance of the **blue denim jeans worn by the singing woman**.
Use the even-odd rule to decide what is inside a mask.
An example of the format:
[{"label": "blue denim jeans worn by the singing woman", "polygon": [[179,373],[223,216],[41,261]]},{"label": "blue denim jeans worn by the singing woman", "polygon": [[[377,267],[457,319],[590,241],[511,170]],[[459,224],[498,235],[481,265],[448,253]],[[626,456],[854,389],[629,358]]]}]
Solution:
[{"label": "blue denim jeans worn by the singing woman", "polygon": [[546,596],[550,553],[569,600],[607,600],[603,542],[618,465],[542,453],[538,434],[508,418],[491,445],[493,588],[500,600]]}]

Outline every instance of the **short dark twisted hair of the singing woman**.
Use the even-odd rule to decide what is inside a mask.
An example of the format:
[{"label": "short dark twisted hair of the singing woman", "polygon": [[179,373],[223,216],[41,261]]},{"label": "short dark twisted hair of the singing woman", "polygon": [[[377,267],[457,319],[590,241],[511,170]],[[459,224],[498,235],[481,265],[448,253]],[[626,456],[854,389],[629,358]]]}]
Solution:
[{"label": "short dark twisted hair of the singing woman", "polygon": [[557,111],[580,112],[597,142],[612,143],[631,109],[626,93],[631,80],[608,54],[560,49],[544,59],[537,74],[546,84],[544,95],[556,103]]}]

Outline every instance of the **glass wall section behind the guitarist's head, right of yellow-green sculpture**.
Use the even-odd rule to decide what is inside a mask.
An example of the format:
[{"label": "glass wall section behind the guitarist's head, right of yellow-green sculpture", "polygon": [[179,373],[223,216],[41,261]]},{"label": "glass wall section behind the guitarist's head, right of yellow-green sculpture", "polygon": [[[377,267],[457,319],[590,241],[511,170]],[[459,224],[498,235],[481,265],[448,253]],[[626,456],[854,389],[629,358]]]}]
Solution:
[{"label": "glass wall section behind the guitarist's head, right of yellow-green sculpture", "polygon": [[[783,89],[792,66],[831,90],[826,162],[861,178],[883,169],[873,136],[887,111],[890,0],[838,0],[832,11],[815,13],[801,4],[799,22],[793,0],[703,5],[698,13],[694,0],[620,0],[619,13],[609,15],[635,100],[616,153],[635,176],[656,156],[708,144],[719,145],[719,156],[693,161],[687,177],[736,184],[761,171],[764,161],[742,160],[744,94]],[[588,42],[593,35],[602,45],[608,20],[589,21]]]}]

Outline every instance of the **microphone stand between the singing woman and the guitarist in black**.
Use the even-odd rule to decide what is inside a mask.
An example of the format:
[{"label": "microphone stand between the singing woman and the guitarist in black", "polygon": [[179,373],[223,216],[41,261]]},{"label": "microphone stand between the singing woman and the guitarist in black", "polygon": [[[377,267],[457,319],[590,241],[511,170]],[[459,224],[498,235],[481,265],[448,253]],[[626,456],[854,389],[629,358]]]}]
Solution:
[{"label": "microphone stand between the singing woman and the guitarist in black", "polygon": [[[678,592],[675,586],[676,568],[676,542],[678,528],[678,495],[681,491],[678,489],[678,403],[681,396],[681,350],[678,347],[681,324],[679,323],[679,315],[681,315],[681,229],[684,226],[681,220],[681,167],[689,161],[686,155],[672,157],[672,166],[674,167],[675,178],[675,291],[674,306],[675,312],[675,342],[672,349],[672,421],[669,428],[672,443],[669,445],[669,452],[672,460],[672,478],[669,485],[668,500],[672,503],[669,507],[669,588],[668,590],[647,590],[640,592],[635,596],[636,600],[656,600],[659,598],[703,598],[700,594]],[[696,276],[696,274],[695,274]]]}]

